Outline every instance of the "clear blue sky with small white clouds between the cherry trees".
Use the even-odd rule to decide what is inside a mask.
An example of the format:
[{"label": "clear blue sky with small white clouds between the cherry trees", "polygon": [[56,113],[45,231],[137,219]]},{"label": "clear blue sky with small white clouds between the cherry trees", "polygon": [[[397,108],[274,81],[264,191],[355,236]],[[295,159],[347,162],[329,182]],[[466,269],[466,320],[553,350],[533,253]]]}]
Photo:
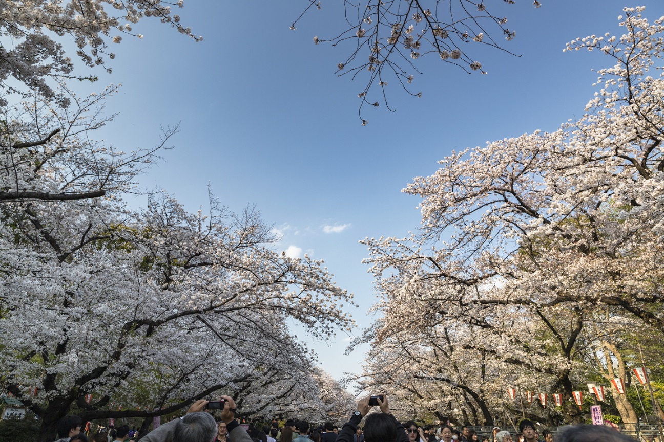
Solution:
[{"label": "clear blue sky with small white clouds between the cherry trees", "polygon": [[[360,335],[376,298],[361,264],[367,250],[358,241],[416,230],[419,201],[400,190],[432,174],[452,150],[552,131],[582,115],[594,93],[592,68],[612,61],[598,52],[563,53],[565,43],[622,34],[616,17],[625,6],[645,5],[650,21],[664,15],[661,0],[624,1],[542,0],[539,9],[530,1],[485,1],[509,18],[516,38],[495,38],[520,57],[491,48],[471,52],[486,75],[466,74],[436,56],[420,58],[424,74],[413,85],[422,98],[394,85],[388,98],[396,112],[367,108],[366,127],[357,116],[364,83],[334,74],[348,48],[312,41],[339,27],[338,0],[323,0],[294,31],[289,27],[308,0],[187,0],[179,14],[203,42],[145,20],[134,27],[142,40],[125,37],[112,47],[113,74],[93,70],[100,82],[76,88],[123,84],[108,103],[120,115],[102,135],[124,150],[153,145],[160,126],[180,122],[176,148],[141,184],[164,188],[191,211],[205,207],[208,183],[234,211],[255,204],[282,233],[279,249],[324,259],[337,284],[355,293]],[[303,339],[333,376],[361,371],[362,349],[342,357],[346,335],[329,345]]]}]

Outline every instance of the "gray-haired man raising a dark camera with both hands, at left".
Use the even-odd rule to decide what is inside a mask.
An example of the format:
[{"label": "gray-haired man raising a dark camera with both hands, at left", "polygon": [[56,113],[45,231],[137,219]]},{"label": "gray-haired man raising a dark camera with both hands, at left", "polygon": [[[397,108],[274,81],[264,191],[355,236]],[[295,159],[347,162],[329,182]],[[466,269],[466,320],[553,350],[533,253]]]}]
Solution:
[{"label": "gray-haired man raising a dark camera with both hands, at left", "polygon": [[[230,396],[221,396],[226,401],[221,412],[221,420],[226,423],[230,442],[252,442],[251,437],[235,420],[235,401]],[[197,400],[189,407],[187,414],[159,426],[155,431],[141,438],[144,442],[214,442],[217,434],[214,417],[207,414],[205,406],[209,401]]]}]

